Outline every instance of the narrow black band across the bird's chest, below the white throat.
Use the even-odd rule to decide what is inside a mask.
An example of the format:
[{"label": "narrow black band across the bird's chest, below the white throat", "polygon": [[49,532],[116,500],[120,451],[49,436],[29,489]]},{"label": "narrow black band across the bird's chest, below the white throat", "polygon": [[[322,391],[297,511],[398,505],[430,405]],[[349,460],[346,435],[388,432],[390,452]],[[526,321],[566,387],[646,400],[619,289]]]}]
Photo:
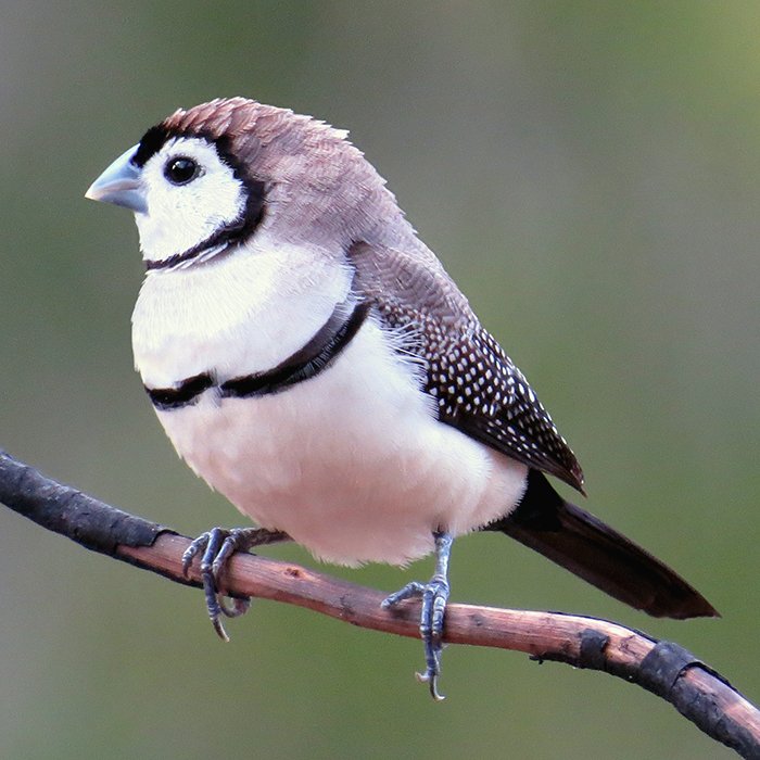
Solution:
[{"label": "narrow black band across the bird's chest, below the white throat", "polygon": [[194,404],[200,395],[215,388],[223,398],[248,398],[279,393],[314,378],[326,369],[351,343],[369,314],[369,304],[359,302],[345,315],[346,302],[335,306],[330,318],[303,347],[266,372],[255,372],[218,382],[212,372],[194,375],[174,388],[148,388],[156,409],[179,409]]}]

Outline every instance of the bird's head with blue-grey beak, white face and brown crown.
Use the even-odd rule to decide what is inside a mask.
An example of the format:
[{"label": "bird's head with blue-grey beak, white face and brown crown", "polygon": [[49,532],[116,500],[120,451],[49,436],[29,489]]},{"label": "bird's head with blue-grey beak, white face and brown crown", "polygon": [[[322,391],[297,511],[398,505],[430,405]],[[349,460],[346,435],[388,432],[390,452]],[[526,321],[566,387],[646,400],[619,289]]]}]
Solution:
[{"label": "bird's head with blue-grey beak, white face and brown crown", "polygon": [[349,245],[400,212],[345,138],[286,109],[214,100],[149,129],[87,198],[135,212],[149,269],[192,266],[264,235]]}]

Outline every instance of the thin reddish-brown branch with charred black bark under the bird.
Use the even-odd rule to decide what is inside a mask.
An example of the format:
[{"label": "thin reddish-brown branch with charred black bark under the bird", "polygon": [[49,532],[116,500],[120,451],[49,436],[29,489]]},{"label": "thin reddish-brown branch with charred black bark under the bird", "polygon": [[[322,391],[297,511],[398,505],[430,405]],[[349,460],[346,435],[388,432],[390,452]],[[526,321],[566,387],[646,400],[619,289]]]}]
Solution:
[{"label": "thin reddish-brown branch with charred black bark under the bird", "polygon": [[[2,452],[0,502],[89,549],[200,585],[198,562],[189,578],[182,575],[189,539],[49,480]],[[362,628],[419,637],[415,603],[383,610],[381,592],[291,562],[238,554],[223,582],[236,596],[284,601]],[[596,618],[454,604],[446,608],[444,638],[523,651],[535,660],[601,670],[637,683],[742,757],[760,760],[760,711],[677,644]]]}]

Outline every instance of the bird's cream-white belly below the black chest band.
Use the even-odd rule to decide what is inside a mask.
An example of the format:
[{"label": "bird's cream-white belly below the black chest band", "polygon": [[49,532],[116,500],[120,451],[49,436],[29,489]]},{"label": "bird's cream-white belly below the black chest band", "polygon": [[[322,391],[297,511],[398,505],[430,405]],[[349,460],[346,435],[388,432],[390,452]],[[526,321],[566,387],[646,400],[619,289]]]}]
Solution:
[{"label": "bird's cream-white belly below the black chest band", "polygon": [[321,375],[256,398],[160,411],[179,454],[259,525],[315,556],[402,565],[432,531],[461,534],[508,512],[525,467],[432,416],[409,365],[365,324]]}]

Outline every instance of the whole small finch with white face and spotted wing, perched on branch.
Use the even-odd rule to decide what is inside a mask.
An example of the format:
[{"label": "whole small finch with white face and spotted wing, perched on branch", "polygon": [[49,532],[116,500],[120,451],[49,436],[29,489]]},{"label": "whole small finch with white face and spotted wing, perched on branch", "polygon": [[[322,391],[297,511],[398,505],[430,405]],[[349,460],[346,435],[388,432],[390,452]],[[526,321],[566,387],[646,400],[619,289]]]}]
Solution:
[{"label": "whole small finch with white face and spotted wing, perched on branch", "polygon": [[718,616],[693,586],[566,501],[581,467],[535,392],[345,130],[245,98],[179,109],[87,198],[135,215],[145,276],[135,366],[179,456],[256,527],[197,555],[208,615],[229,556],[292,540],[344,566],[434,555],[420,599],[440,699],[453,541],[503,532],[656,617]]}]

